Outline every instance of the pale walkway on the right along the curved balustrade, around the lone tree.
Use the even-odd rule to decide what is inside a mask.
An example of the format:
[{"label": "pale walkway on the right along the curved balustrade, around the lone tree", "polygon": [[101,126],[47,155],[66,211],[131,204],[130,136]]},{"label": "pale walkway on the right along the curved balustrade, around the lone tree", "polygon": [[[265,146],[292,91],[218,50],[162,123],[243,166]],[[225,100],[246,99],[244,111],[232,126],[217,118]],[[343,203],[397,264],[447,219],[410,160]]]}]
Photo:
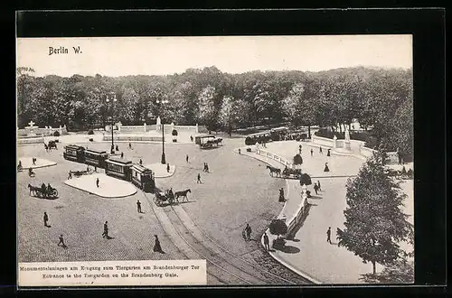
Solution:
[{"label": "pale walkway on the right along the curved balustrade, around the lone tree", "polygon": [[[297,153],[299,143],[291,146],[290,144],[281,144],[275,142],[267,144],[268,148],[264,149],[271,153],[286,157],[291,160]],[[343,171],[344,174],[354,175],[359,171],[359,167],[363,160],[353,156],[330,156],[315,152],[313,158],[310,156],[309,144],[302,144],[302,157],[304,163],[302,169],[311,174],[318,167],[317,163],[323,162],[325,159],[334,159],[334,169]],[[307,149],[309,148],[309,149]],[[277,151],[278,150],[278,151]],[[244,153],[245,152],[245,153]],[[269,158],[257,155],[255,153],[246,153],[245,148],[241,148],[241,154],[257,158],[263,162]],[[308,154],[306,156],[306,154]],[[317,159],[318,161],[315,161]],[[273,161],[272,165],[281,167],[281,164]],[[273,250],[269,255],[278,260],[287,268],[296,272],[298,275],[305,276],[315,284],[363,284],[360,280],[363,274],[372,273],[372,264],[363,264],[360,257],[354,256],[353,252],[348,251],[345,247],[337,247],[336,230],[344,229],[344,210],[346,209],[345,200],[345,183],[347,178],[335,177],[334,179],[322,179],[322,191],[315,194],[312,189],[312,198],[307,199],[307,216],[305,221],[300,225],[296,236],[292,240],[287,240],[286,247],[281,250]],[[292,181],[297,182],[297,181]],[[287,182],[287,202],[280,213],[279,218],[286,218],[290,221],[292,214],[297,213],[301,201],[299,183]],[[315,182],[315,181],[313,181]],[[412,182],[404,182],[403,191],[408,194],[405,202],[405,213],[412,215],[413,210],[413,192]],[[312,187],[308,187],[310,189]],[[411,190],[411,191],[410,191]],[[413,217],[409,219],[413,222]],[[288,223],[288,222],[287,222]],[[326,242],[326,230],[331,227],[331,240],[333,244]],[[270,235],[267,231],[270,245],[275,236]],[[400,243],[402,249],[409,250],[410,245]],[[377,272],[381,272],[382,266],[377,264]]]}]

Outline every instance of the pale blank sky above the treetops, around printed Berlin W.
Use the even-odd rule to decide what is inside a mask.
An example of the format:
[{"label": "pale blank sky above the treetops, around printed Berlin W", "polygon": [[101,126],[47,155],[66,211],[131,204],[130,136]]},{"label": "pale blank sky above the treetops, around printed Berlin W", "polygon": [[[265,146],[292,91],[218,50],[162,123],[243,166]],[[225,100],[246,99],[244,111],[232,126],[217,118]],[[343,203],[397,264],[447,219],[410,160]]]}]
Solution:
[{"label": "pale blank sky above the treetops, around printed Berlin W", "polygon": [[[64,47],[68,53],[52,53]],[[80,47],[75,53],[73,48]],[[17,67],[34,75],[165,75],[216,66],[222,72],[412,67],[411,35],[18,38]]]}]

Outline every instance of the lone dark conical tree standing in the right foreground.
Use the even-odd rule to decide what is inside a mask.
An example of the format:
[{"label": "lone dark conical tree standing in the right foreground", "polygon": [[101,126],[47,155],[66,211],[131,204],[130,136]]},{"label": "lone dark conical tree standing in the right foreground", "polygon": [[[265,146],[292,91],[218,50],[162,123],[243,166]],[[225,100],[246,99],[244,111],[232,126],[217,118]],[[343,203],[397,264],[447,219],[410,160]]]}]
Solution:
[{"label": "lone dark conical tree standing in the right foreground", "polygon": [[346,185],[347,209],[344,230],[337,228],[339,247],[346,247],[363,263],[391,264],[402,254],[400,241],[409,240],[412,226],[400,210],[406,195],[398,182],[384,172],[379,154],[374,154],[354,180]]}]

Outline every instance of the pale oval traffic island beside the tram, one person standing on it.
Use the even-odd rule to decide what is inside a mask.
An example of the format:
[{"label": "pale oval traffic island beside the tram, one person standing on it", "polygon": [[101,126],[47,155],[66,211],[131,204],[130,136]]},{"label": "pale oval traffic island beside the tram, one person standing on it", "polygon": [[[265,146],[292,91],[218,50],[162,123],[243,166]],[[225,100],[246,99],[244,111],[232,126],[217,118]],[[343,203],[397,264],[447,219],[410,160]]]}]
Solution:
[{"label": "pale oval traffic island beside the tram, one person standing on it", "polygon": [[[99,187],[96,186],[97,178],[99,178]],[[66,180],[64,183],[102,198],[122,198],[137,193],[137,189],[130,182],[110,177],[104,173],[92,173],[79,178],[72,174],[72,179]]]}]

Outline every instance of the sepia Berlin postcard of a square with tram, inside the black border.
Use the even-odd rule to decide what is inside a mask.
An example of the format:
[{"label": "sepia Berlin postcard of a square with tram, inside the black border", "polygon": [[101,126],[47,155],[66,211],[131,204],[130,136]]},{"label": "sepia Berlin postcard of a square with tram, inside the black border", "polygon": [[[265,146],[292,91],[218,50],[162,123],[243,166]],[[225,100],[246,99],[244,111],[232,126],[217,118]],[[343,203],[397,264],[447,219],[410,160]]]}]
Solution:
[{"label": "sepia Berlin postcard of a square with tram, inside the black border", "polygon": [[19,286],[414,283],[412,35],[16,48]]}]

